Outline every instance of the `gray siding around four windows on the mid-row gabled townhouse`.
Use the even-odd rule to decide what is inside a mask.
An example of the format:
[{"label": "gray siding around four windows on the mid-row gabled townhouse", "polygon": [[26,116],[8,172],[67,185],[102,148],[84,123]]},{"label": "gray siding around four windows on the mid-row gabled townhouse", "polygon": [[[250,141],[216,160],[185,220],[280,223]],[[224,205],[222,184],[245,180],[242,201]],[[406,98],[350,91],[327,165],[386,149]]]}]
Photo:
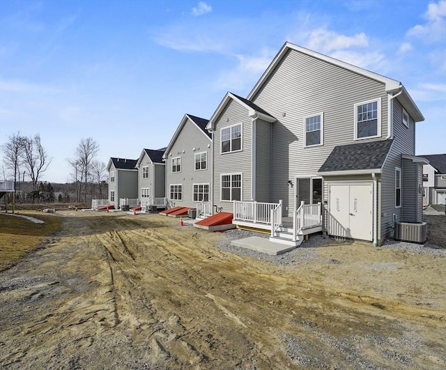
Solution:
[{"label": "gray siding around four windows on the mid-row gabled townhouse", "polygon": [[[197,128],[197,125],[192,123],[190,119],[187,119],[183,128],[178,132],[178,136],[169,149],[169,153],[166,153],[166,176],[165,186],[167,198],[170,196],[170,185],[181,184],[183,185],[183,200],[174,200],[176,206],[196,207],[197,202],[194,202],[193,198],[193,185],[194,184],[209,184],[211,180],[211,140],[210,138]],[[209,148],[208,148],[209,146]],[[207,154],[207,168],[196,170],[195,169],[195,154],[206,153]],[[181,157],[181,171],[172,172],[172,158]],[[209,194],[210,196],[210,194]]]}]

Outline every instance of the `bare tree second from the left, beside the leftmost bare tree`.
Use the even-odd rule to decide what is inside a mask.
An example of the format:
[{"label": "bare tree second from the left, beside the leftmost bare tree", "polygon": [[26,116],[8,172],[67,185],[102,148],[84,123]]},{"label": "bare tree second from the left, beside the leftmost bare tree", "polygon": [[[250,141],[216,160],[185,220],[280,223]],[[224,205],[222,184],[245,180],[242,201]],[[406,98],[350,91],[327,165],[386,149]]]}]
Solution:
[{"label": "bare tree second from the left, beside the leftmost bare tree", "polygon": [[48,157],[45,148],[43,148],[39,134],[34,135],[34,137],[24,137],[22,157],[26,171],[31,178],[34,203],[38,191],[38,180],[40,175],[47,170],[52,158]]}]

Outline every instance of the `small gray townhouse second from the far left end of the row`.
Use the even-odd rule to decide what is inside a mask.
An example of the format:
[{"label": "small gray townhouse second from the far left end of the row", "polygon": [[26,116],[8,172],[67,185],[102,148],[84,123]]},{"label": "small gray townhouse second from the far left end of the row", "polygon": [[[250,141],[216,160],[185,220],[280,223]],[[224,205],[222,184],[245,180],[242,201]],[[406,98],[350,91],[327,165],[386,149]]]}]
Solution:
[{"label": "small gray townhouse second from the far left end of the row", "polygon": [[141,208],[165,208],[165,164],[162,160],[165,148],[153,150],[143,149],[137,160],[137,193]]}]

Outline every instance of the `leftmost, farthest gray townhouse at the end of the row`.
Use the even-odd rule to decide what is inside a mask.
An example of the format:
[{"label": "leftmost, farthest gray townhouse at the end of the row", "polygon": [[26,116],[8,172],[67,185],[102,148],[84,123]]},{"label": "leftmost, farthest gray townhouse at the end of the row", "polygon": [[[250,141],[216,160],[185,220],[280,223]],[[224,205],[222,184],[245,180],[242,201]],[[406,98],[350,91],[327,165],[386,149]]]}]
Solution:
[{"label": "leftmost, farthest gray townhouse at the end of the row", "polygon": [[[109,203],[116,209],[137,203],[138,169],[137,160],[111,157],[107,164],[109,172]],[[125,199],[123,201],[122,199]]]}]

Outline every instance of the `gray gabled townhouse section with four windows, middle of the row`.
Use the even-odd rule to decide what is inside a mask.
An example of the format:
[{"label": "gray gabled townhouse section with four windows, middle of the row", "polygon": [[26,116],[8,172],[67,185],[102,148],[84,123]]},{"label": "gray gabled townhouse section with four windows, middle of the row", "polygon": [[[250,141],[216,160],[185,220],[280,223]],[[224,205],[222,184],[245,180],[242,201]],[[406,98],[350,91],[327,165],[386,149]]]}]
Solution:
[{"label": "gray gabled townhouse section with four windows, middle of the row", "polygon": [[210,207],[211,137],[208,120],[185,114],[164,153],[166,190],[170,206],[196,208],[198,216]]}]

